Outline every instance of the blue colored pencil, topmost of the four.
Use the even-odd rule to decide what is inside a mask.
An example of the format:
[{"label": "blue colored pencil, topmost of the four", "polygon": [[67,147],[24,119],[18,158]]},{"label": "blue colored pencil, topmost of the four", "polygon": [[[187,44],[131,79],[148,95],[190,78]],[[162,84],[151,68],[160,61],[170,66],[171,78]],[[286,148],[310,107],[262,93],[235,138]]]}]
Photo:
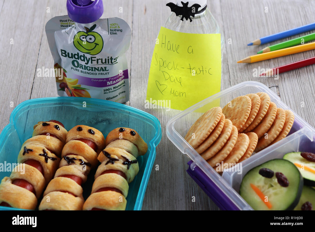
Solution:
[{"label": "blue colored pencil, topmost of the four", "polygon": [[261,37],[259,39],[254,40],[253,42],[249,43],[248,45],[261,45],[266,44],[278,39],[283,39],[292,35],[297,35],[303,32],[311,31],[315,29],[315,23],[310,23],[301,27],[296,27],[293,29],[289,29],[287,31],[279,32],[273,35],[268,35],[265,37]]}]

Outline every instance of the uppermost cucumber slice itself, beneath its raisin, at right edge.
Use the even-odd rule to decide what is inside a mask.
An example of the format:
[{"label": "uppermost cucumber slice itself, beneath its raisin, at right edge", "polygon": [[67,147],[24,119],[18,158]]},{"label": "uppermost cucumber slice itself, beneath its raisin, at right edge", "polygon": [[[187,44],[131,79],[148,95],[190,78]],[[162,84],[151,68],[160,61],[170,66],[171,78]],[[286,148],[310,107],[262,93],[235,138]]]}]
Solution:
[{"label": "uppermost cucumber slice itself, beneath its raisin, at right edge", "polygon": [[291,161],[293,164],[304,165],[304,170],[301,167],[298,167],[298,170],[301,172],[301,175],[304,178],[304,184],[309,186],[315,186],[315,173],[308,171],[305,167],[309,167],[315,170],[315,162],[309,161],[301,157],[301,152],[290,152],[284,155],[283,157],[286,160]]}]

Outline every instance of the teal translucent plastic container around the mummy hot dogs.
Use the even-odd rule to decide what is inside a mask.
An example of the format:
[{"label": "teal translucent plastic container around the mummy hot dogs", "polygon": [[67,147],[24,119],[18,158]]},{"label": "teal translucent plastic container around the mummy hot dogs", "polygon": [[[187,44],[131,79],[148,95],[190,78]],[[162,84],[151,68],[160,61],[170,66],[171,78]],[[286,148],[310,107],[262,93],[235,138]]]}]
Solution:
[{"label": "teal translucent plastic container around the mummy hot dogs", "polygon": [[[126,210],[141,210],[146,186],[156,156],[156,146],[161,140],[161,125],[156,117],[128,105],[111,101],[79,98],[37,98],[22,102],[12,111],[10,123],[0,134],[0,163],[17,163],[23,142],[32,137],[33,126],[39,121],[57,120],[70,130],[76,125],[89,125],[100,130],[104,136],[114,128],[135,129],[148,144],[148,151],[137,158],[139,173],[129,184]],[[91,193],[96,169],[91,170],[83,184],[83,197]],[[0,171],[0,180],[11,171]],[[41,199],[38,200],[40,202]],[[19,210],[0,206],[0,210]]]}]

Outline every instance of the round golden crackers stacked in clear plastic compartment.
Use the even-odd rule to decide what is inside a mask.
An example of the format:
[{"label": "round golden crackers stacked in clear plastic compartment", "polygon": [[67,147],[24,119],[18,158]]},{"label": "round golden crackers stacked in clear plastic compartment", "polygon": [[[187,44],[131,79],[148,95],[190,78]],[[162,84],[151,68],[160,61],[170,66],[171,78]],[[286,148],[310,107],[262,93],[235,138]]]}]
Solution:
[{"label": "round golden crackers stacked in clear plastic compartment", "polygon": [[294,114],[277,108],[268,94],[250,93],[223,109],[208,110],[188,130],[185,140],[211,167],[222,161],[231,166],[285,138],[293,122]]}]

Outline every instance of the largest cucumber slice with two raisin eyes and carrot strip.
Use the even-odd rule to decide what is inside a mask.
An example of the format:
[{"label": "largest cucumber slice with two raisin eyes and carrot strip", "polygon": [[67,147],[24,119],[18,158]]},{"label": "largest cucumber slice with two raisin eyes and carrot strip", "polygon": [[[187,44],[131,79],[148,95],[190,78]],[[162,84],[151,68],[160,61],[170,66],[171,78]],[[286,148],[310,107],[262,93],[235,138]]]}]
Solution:
[{"label": "largest cucumber slice with two raisin eyes and carrot strip", "polygon": [[[260,175],[261,168],[272,170],[273,177],[266,178]],[[276,172],[281,172],[287,177],[288,187],[282,187],[278,183]],[[262,196],[267,200],[267,204],[270,204],[270,208],[254,191],[251,184],[263,193]],[[273,159],[249,170],[242,180],[239,193],[254,210],[293,210],[299,202],[302,188],[303,178],[295,165],[288,160]]]}]

